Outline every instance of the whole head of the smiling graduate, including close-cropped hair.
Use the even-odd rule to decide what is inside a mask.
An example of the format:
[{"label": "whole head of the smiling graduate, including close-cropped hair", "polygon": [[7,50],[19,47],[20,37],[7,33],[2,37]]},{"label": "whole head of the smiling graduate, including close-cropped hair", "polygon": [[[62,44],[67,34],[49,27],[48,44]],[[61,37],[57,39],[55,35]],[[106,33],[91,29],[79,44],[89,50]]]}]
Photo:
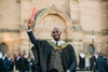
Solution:
[{"label": "whole head of the smiling graduate, including close-cropped hair", "polygon": [[54,27],[53,30],[52,30],[52,33],[51,33],[51,35],[53,37],[53,39],[55,41],[59,41],[60,40],[60,34],[62,34],[60,29],[57,28],[57,27]]}]

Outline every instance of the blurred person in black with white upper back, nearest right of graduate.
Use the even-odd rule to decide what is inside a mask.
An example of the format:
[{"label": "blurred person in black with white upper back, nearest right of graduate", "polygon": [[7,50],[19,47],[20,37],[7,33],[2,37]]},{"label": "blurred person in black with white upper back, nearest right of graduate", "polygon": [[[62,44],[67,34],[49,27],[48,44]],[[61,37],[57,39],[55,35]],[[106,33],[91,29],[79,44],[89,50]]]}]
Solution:
[{"label": "blurred person in black with white upper back, nearest right of graduate", "polygon": [[83,52],[79,55],[79,68],[81,71],[85,68],[85,55]]}]

